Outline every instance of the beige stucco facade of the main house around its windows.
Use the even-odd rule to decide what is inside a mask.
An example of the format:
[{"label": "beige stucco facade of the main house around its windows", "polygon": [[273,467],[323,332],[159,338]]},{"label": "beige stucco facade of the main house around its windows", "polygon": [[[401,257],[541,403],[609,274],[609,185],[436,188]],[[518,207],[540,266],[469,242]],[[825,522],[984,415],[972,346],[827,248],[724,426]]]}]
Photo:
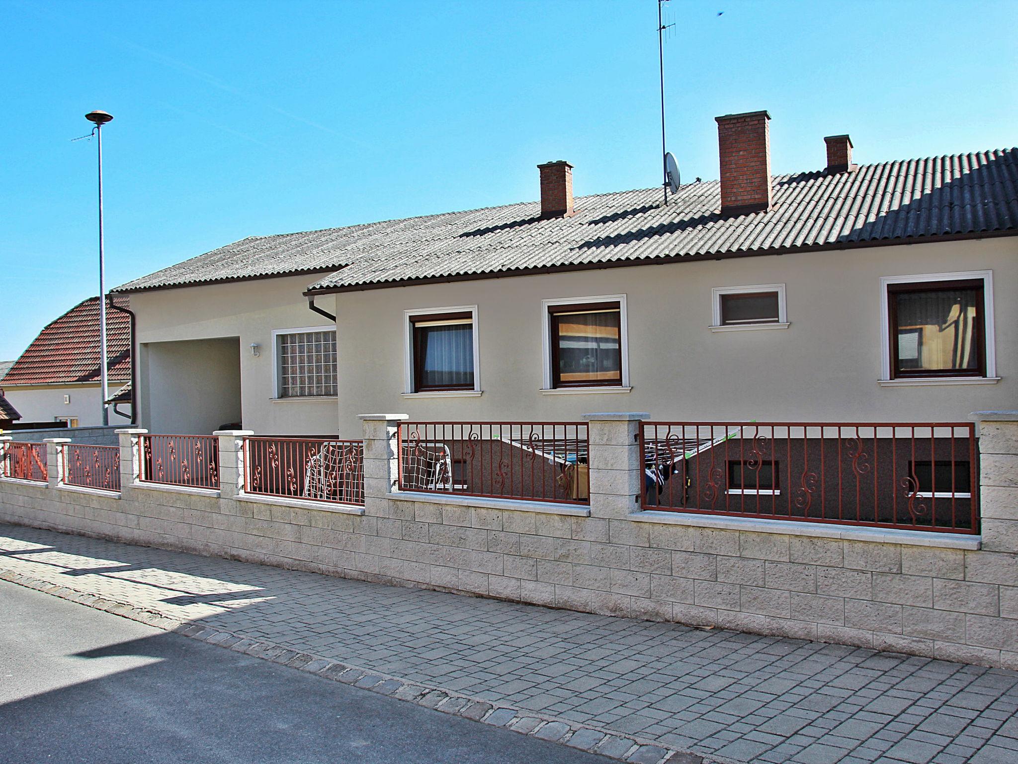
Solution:
[{"label": "beige stucco facade of the main house around its windows", "polygon": [[[884,387],[881,278],[992,270],[997,374],[986,385]],[[945,421],[1018,403],[1018,239],[610,268],[320,297],[339,319],[339,399],[273,402],[272,331],[321,326],[296,276],[132,295],[143,342],[240,337],[243,422],[272,433],[357,437],[358,414],[414,419],[574,420],[649,412],[661,420]],[[783,330],[712,332],[712,288],[787,284]],[[548,395],[542,299],[624,293],[629,393]],[[335,309],[333,308],[335,305]],[[480,397],[408,398],[403,311],[478,306]],[[249,344],[262,345],[254,358]]]}]

